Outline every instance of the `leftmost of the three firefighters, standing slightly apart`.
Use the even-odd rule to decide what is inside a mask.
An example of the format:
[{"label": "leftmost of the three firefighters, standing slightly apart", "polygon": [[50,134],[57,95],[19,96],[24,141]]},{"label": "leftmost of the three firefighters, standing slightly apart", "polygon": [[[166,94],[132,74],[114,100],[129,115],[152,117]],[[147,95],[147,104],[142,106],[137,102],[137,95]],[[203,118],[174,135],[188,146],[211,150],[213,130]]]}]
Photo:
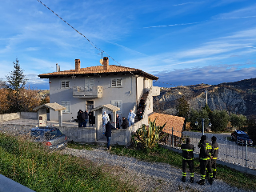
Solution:
[{"label": "leftmost of the three firefighters, standing slightly apart", "polygon": [[186,138],[186,144],[182,144],[182,182],[186,182],[186,163],[190,168],[190,182],[194,182],[194,146],[190,144],[190,138]]}]

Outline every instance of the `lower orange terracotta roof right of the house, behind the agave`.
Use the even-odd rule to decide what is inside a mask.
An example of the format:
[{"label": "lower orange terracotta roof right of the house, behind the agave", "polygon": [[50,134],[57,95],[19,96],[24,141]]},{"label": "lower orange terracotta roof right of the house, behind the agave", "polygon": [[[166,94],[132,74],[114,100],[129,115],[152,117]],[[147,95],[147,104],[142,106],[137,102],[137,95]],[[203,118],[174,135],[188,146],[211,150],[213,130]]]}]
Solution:
[{"label": "lower orange terracotta roof right of the house, behind the agave", "polygon": [[174,128],[174,135],[178,136],[179,138],[182,137],[182,128],[185,121],[185,118],[170,115],[170,114],[150,114],[149,116],[150,121],[154,121],[155,118],[155,124],[156,126],[163,126],[166,123],[166,126],[162,130],[163,132],[171,134],[172,127]]}]

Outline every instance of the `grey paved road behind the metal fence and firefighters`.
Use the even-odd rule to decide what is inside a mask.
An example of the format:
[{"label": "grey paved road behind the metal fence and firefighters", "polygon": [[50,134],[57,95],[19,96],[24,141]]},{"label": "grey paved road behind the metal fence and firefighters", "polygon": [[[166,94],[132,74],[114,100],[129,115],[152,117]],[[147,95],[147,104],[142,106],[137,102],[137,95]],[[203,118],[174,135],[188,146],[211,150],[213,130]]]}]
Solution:
[{"label": "grey paved road behind the metal fence and firefighters", "polygon": [[[191,138],[191,142],[195,146],[195,152],[199,153],[198,142],[202,136],[202,133],[184,131],[183,135]],[[207,140],[210,142],[210,138],[215,136],[218,142],[219,154],[218,159],[225,162],[232,162],[234,164],[246,166],[246,146],[238,146],[236,142],[227,141],[227,137],[231,134],[208,134],[206,133]],[[256,169],[256,148],[252,146],[247,147],[247,166]]]}]

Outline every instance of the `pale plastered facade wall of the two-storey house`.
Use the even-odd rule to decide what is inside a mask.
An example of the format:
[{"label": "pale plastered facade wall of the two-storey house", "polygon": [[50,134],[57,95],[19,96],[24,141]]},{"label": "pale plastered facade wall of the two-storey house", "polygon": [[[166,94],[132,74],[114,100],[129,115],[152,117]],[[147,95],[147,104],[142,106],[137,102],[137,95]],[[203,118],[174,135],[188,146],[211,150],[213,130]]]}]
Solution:
[{"label": "pale plastered facade wall of the two-storey house", "polygon": [[[86,76],[86,78],[88,78]],[[102,86],[102,98],[74,98],[73,86],[85,86],[85,77],[72,78],[50,78],[50,102],[70,101],[70,113],[63,113],[63,121],[69,121],[72,117],[76,118],[78,110],[86,110],[86,101],[94,101],[94,107],[109,104],[113,100],[122,101],[122,114],[120,116],[127,117],[130,109],[137,103],[137,78],[132,74],[117,75],[95,75],[94,86]],[[122,88],[111,87],[111,78],[122,78]],[[70,80],[70,88],[61,88],[61,81]],[[139,86],[139,90],[142,86]],[[108,111],[106,111],[108,113]],[[50,110],[50,120],[58,120],[58,112]]]}]

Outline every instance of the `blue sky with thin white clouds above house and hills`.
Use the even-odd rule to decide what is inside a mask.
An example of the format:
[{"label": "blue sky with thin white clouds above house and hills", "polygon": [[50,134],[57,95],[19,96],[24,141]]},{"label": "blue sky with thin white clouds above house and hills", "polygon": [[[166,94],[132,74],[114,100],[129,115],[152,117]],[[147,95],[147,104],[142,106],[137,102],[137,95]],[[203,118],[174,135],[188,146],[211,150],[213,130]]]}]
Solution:
[{"label": "blue sky with thin white clouds above house and hills", "polygon": [[[42,2],[122,66],[158,76],[155,86],[256,78],[255,0]],[[1,1],[0,13],[3,80],[16,58],[38,89],[49,89],[38,74],[56,63],[61,70],[74,69],[76,58],[81,67],[100,65],[101,52],[38,0]]]}]

